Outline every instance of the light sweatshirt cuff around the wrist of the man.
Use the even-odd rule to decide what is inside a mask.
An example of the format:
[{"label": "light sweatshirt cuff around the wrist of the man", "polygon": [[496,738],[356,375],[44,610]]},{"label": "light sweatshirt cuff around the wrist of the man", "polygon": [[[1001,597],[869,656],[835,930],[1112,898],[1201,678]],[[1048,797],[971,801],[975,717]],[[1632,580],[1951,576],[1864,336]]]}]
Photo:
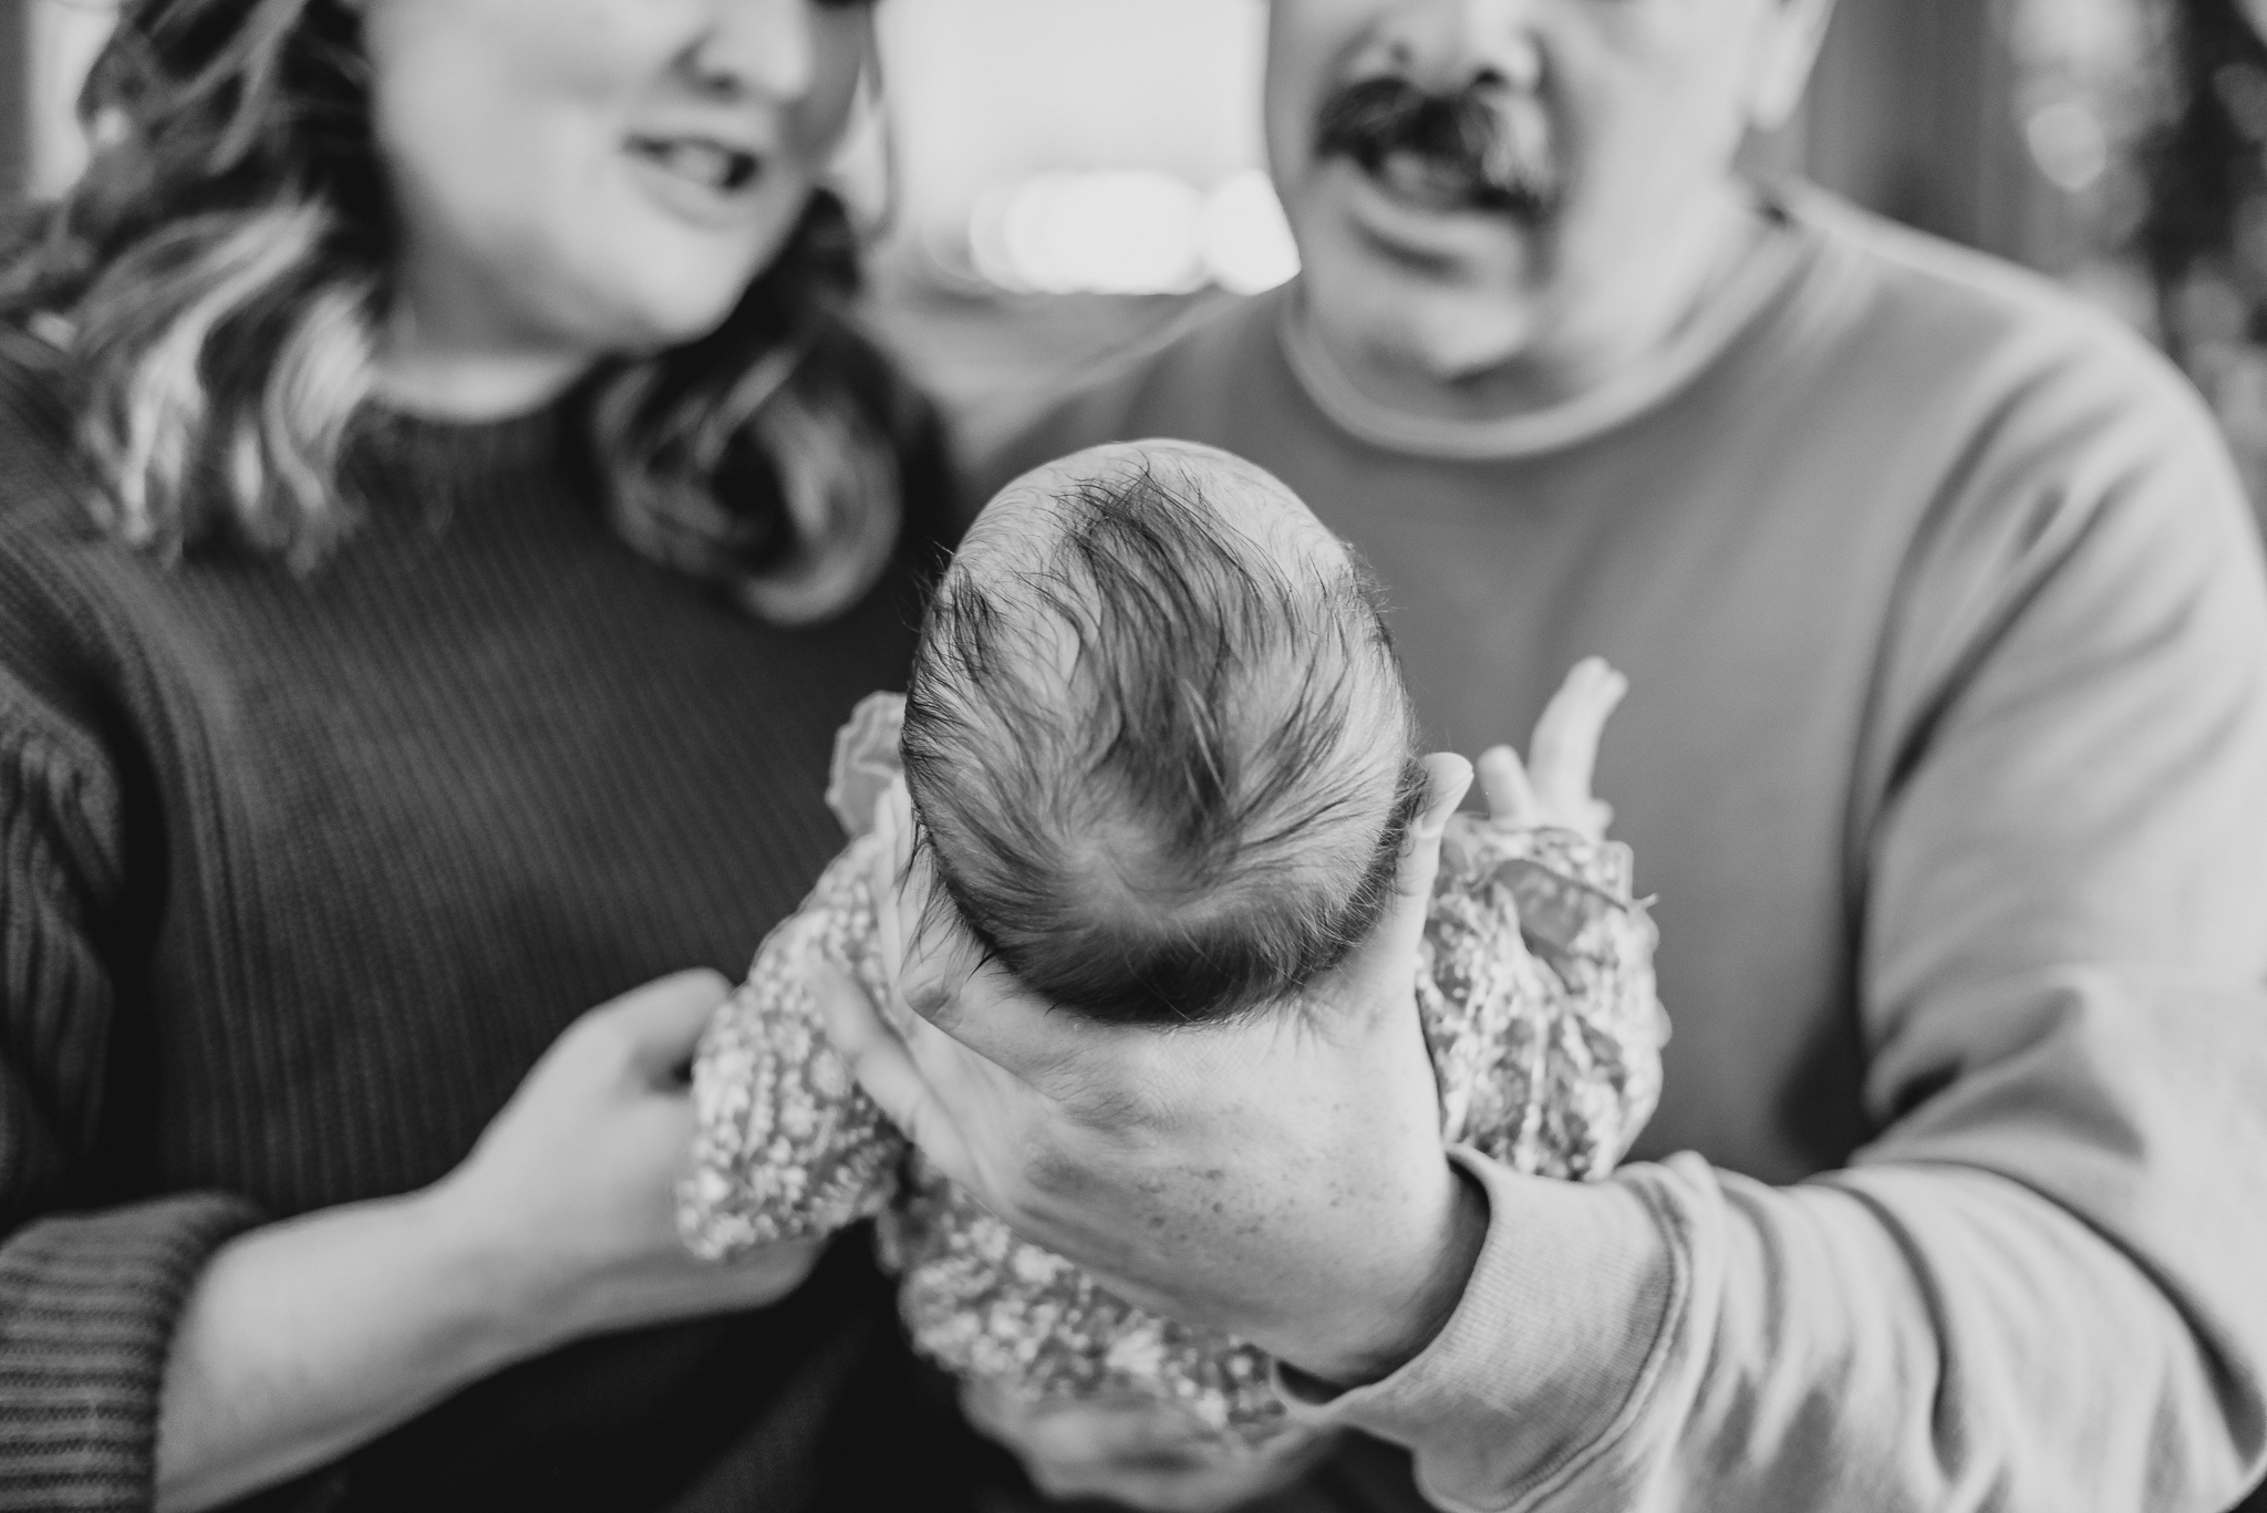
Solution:
[{"label": "light sweatshirt cuff around the wrist of the man", "polygon": [[1623,1438],[1682,1268],[1637,1186],[1449,1155],[1487,1198],[1487,1241],[1446,1327],[1378,1384],[1340,1391],[1276,1366],[1276,1391],[1301,1422],[1408,1447],[1440,1506],[1494,1511],[1551,1495]]}]

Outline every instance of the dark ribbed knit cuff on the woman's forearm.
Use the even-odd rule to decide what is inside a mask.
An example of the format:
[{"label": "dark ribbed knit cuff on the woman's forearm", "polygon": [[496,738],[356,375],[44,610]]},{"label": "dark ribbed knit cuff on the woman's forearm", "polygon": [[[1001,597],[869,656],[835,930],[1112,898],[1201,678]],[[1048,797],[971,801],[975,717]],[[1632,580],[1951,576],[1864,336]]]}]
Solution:
[{"label": "dark ribbed knit cuff on the woman's forearm", "polygon": [[0,1508],[147,1508],[181,1304],[261,1220],[190,1195],[43,1218],[0,1243]]}]

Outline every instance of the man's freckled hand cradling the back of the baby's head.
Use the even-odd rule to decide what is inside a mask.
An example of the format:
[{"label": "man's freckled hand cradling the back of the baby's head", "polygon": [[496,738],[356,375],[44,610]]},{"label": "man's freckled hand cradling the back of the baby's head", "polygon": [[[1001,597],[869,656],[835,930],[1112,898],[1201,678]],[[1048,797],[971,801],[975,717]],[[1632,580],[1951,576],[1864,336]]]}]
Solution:
[{"label": "man's freckled hand cradling the back of the baby's head", "polygon": [[[875,878],[900,1039],[848,980],[821,991],[884,1111],[979,1202],[1127,1300],[1238,1334],[1335,1384],[1412,1359],[1462,1295],[1483,1200],[1442,1150],[1417,1021],[1440,837],[1471,767],[1430,794],[1374,939],[1292,1009],[1224,1025],[1079,1021],[982,964],[911,844],[902,785]],[[911,1009],[911,1012],[907,1012]]]}]

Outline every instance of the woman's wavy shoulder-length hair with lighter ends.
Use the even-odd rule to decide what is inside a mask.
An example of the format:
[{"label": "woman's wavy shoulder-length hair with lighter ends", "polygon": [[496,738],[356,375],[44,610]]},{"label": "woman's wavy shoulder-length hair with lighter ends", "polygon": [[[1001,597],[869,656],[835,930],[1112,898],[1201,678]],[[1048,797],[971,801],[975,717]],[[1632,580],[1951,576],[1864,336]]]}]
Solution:
[{"label": "woman's wavy shoulder-length hair with lighter ends", "polygon": [[[360,20],[340,0],[127,0],[84,177],[0,252],[0,324],[70,352],[104,531],[295,569],[351,529],[394,254]],[[619,533],[775,624],[857,601],[900,526],[918,402],[848,322],[857,236],[818,193],[710,336],[580,390]]]}]

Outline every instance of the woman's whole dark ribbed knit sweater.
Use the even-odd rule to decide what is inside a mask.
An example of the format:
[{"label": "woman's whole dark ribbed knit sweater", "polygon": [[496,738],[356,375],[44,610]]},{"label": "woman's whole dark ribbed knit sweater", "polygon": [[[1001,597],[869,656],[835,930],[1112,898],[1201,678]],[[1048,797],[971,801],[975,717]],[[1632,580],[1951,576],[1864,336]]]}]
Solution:
[{"label": "woman's whole dark ribbed knit sweater", "polygon": [[[322,572],[163,567],[75,504],[0,365],[0,1508],[145,1506],[177,1311],[227,1236],[456,1166],[583,1009],[737,973],[841,835],[948,517],[780,631],[626,549],[571,404],[381,420]],[[279,1506],[796,1506],[893,1370],[841,1250],[784,1304],[521,1366]],[[864,1409],[871,1413],[873,1409]],[[866,1418],[871,1425],[873,1420]]]}]

